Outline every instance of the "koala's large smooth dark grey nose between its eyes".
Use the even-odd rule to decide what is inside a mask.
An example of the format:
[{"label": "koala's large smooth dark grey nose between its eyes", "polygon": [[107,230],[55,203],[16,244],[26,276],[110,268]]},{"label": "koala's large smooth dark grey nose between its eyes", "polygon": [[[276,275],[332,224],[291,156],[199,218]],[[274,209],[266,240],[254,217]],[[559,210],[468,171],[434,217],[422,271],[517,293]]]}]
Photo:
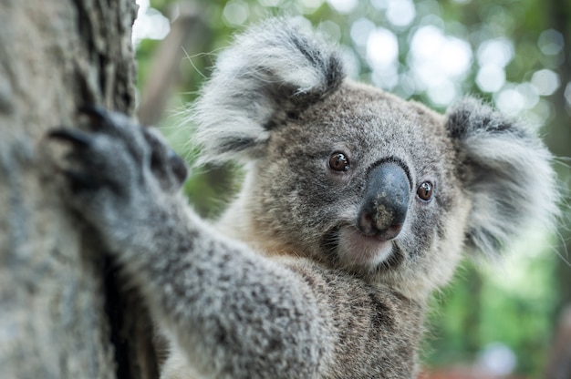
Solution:
[{"label": "koala's large smooth dark grey nose between its eyes", "polygon": [[410,181],[395,162],[380,163],[369,172],[358,229],[383,241],[397,237],[407,217]]}]

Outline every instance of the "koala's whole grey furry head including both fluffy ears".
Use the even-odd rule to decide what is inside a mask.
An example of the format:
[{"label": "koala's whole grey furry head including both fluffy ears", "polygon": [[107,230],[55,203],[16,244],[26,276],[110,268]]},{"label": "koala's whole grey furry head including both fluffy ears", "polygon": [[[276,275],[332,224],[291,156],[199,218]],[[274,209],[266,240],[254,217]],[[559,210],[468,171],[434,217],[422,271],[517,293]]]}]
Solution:
[{"label": "koala's whole grey furry head including both fluffy ears", "polygon": [[238,221],[254,245],[410,297],[447,282],[462,249],[494,255],[555,211],[530,130],[474,99],[440,115],[355,83],[292,20],[238,36],[194,111],[205,161],[247,163]]}]

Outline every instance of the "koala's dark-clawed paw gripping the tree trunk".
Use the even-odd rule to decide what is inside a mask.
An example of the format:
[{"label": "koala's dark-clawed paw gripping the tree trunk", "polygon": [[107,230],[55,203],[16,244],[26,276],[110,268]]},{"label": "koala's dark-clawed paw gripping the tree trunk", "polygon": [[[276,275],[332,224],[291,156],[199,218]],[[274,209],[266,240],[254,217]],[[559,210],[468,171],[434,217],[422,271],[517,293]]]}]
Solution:
[{"label": "koala's dark-clawed paw gripping the tree trunk", "polygon": [[[178,192],[186,178],[182,159],[153,128],[101,108],[79,109],[84,128],[59,128],[48,137],[69,145],[59,165],[69,203],[105,232],[144,222],[161,199]],[[154,206],[154,207],[153,207]]]}]

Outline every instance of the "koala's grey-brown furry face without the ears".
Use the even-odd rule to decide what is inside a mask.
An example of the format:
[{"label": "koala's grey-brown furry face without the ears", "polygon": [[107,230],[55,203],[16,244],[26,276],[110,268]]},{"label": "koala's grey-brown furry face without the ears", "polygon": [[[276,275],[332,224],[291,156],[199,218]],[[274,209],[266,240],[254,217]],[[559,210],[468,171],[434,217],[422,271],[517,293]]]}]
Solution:
[{"label": "koala's grey-brown furry face without the ears", "polygon": [[265,238],[385,280],[448,278],[467,201],[440,115],[346,81],[275,126],[263,157],[250,207]]}]

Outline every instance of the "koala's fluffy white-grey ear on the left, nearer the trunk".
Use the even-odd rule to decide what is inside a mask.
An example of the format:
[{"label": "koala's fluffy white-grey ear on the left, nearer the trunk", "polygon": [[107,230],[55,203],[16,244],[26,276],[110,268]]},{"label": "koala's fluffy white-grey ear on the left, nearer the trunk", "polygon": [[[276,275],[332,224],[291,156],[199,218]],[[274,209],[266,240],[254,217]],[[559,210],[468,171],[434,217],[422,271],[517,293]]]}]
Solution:
[{"label": "koala's fluffy white-grey ear on the left, nearer the trunk", "polygon": [[237,36],[193,108],[202,162],[252,159],[285,118],[335,90],[337,51],[296,19],[270,19]]}]

